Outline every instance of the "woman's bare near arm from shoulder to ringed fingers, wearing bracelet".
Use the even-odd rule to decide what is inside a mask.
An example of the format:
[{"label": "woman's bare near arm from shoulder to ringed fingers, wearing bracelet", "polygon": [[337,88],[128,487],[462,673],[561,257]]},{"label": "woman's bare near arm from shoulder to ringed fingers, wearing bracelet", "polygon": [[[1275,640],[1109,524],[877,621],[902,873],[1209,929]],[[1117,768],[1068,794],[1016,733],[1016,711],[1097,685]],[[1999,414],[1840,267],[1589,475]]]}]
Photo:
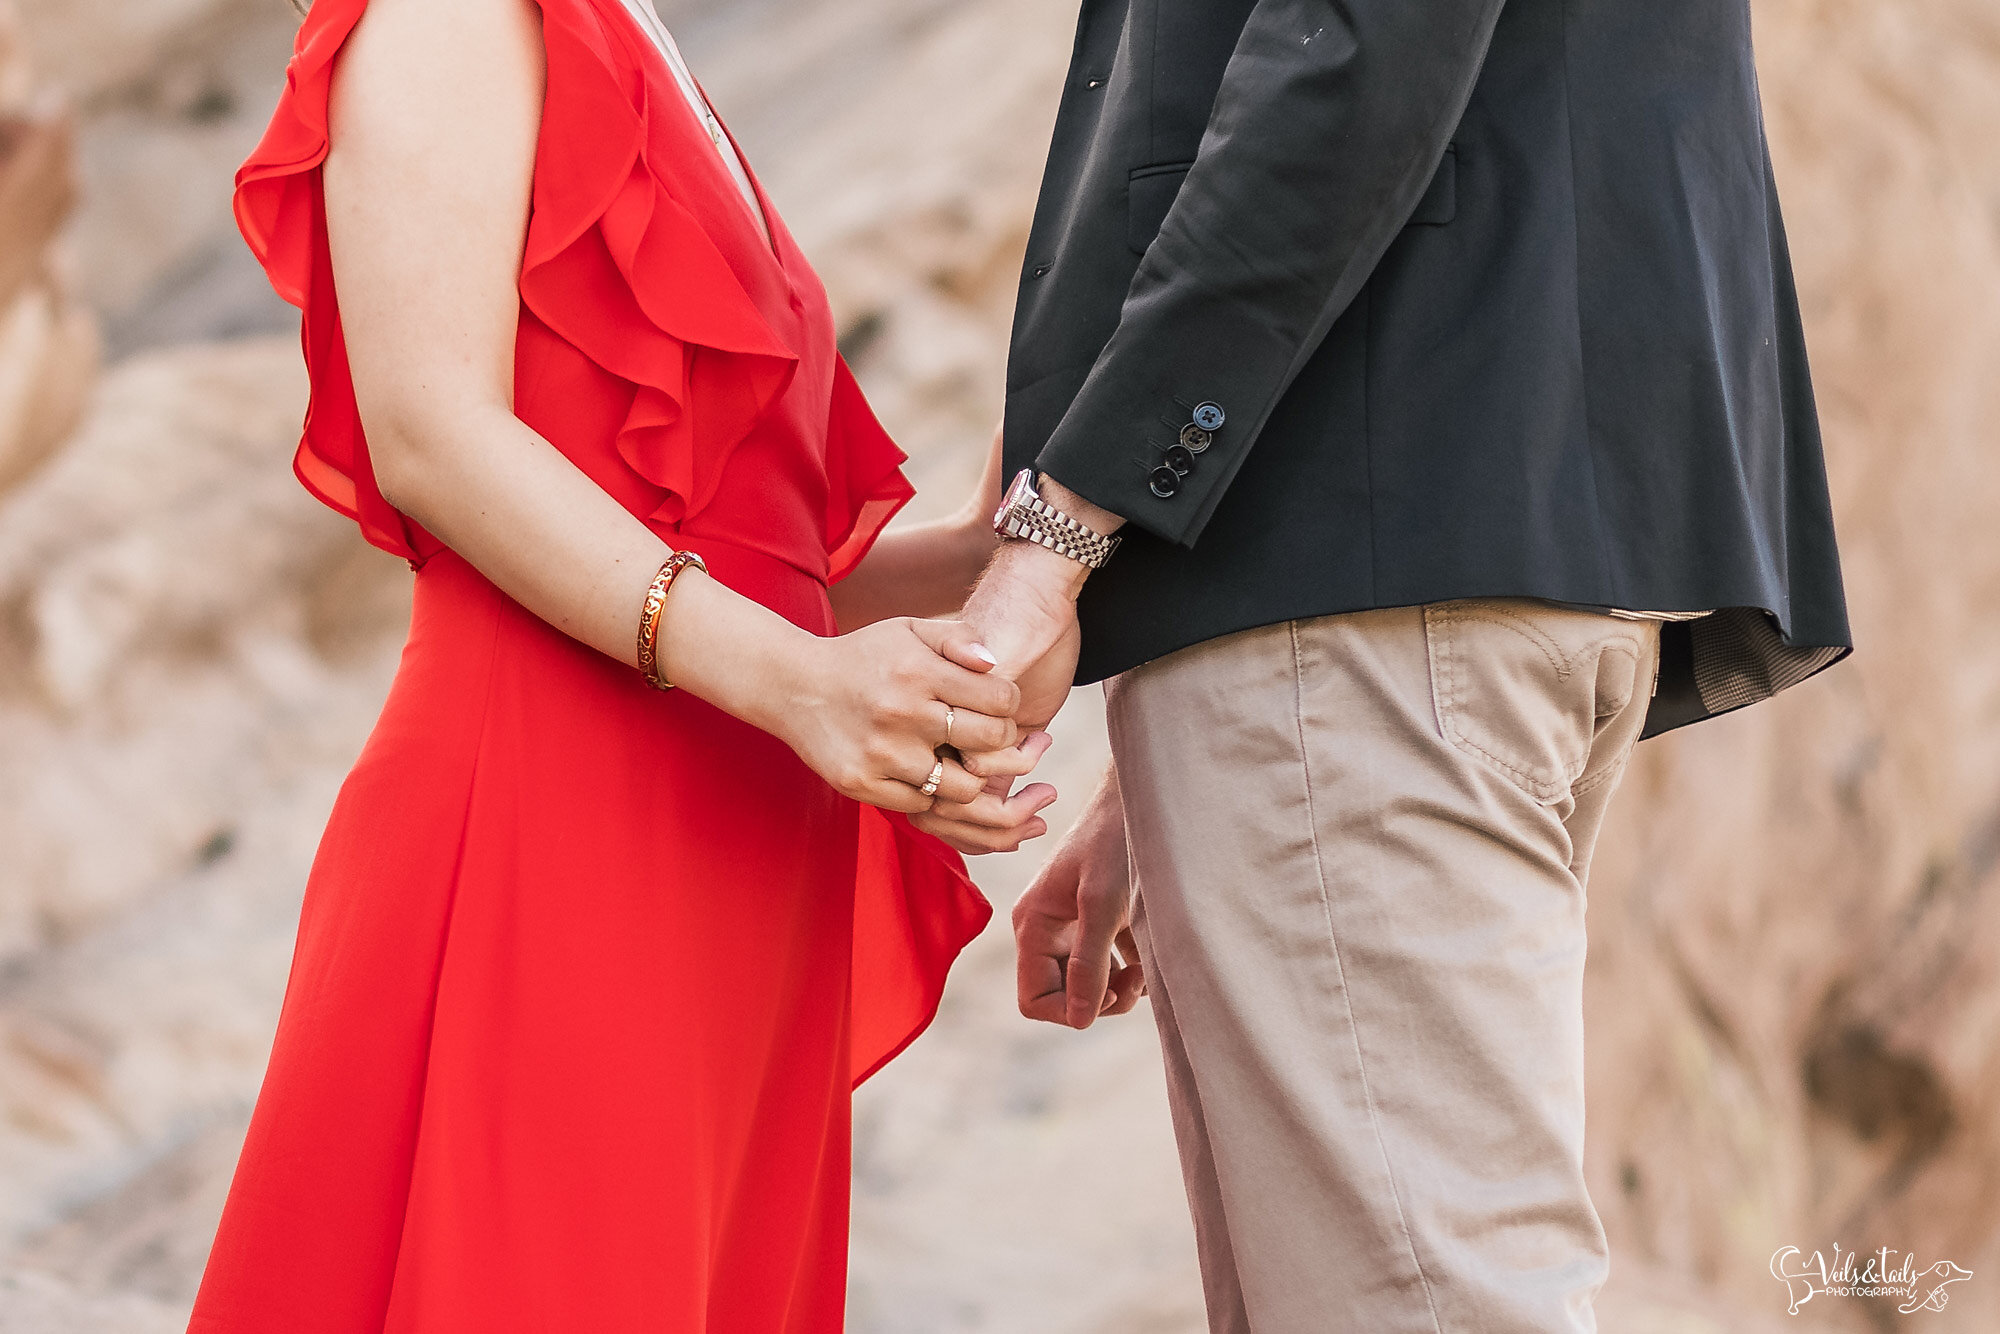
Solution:
[{"label": "woman's bare near arm from shoulder to ringed fingers, wearing bracelet", "polygon": [[[530,0],[374,0],[334,78],[334,278],[388,502],[536,616],[632,664],[668,546],[512,406],[544,80]],[[822,640],[690,570],[660,644],[670,680],[878,806],[930,806],[914,784],[946,704],[968,748],[1016,740],[1018,692],[984,674],[960,626],[900,620]],[[940,796],[978,790],[948,766]],[[1018,822],[998,804],[990,816]]]}]

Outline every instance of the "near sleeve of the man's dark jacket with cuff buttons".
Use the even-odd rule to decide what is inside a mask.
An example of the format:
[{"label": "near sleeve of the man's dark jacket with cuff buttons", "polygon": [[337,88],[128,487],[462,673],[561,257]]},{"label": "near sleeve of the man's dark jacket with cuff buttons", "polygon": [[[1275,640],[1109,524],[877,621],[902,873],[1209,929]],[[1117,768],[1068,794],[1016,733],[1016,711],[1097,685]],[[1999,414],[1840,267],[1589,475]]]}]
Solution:
[{"label": "near sleeve of the man's dark jacket with cuff buttons", "polygon": [[[1160,538],[1196,542],[1438,170],[1500,2],[1256,4],[1118,330],[1036,458],[1042,472]],[[1222,422],[1158,496],[1154,446],[1196,408]]]}]

